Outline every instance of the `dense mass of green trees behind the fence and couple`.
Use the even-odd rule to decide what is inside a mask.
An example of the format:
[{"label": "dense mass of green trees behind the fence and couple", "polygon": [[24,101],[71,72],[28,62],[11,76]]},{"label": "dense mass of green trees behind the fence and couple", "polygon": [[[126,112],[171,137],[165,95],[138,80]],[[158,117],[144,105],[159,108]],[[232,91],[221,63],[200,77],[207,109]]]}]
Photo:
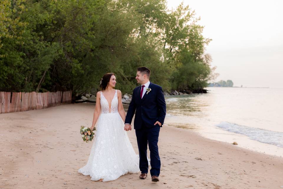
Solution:
[{"label": "dense mass of green trees behind the fence and couple", "polygon": [[203,88],[215,68],[198,20],[166,0],[2,0],[0,91],[96,92],[114,72],[131,92],[139,66],[165,90]]}]

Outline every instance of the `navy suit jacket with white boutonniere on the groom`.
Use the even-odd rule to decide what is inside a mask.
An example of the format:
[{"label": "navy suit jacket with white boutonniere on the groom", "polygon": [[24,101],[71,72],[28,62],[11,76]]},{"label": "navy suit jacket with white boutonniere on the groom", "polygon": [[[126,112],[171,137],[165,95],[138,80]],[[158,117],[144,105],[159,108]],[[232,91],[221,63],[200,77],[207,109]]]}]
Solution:
[{"label": "navy suit jacket with white boutonniere on the groom", "polygon": [[159,121],[162,125],[164,124],[166,103],[162,87],[150,82],[148,88],[151,91],[149,93],[146,92],[142,99],[140,97],[141,85],[133,91],[125,123],[131,123],[136,112],[134,129],[141,129],[142,124],[149,128],[159,126],[158,124],[154,125],[156,121]]}]

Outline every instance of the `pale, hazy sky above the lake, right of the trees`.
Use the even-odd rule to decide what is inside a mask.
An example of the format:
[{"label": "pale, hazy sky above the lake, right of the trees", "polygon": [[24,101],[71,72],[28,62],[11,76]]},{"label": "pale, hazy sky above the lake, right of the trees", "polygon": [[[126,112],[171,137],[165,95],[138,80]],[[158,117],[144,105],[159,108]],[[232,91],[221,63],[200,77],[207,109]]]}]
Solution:
[{"label": "pale, hazy sky above the lake, right of the trees", "polygon": [[[175,8],[182,0],[167,0]],[[200,16],[206,48],[220,75],[234,86],[283,87],[283,1],[184,0]]]}]

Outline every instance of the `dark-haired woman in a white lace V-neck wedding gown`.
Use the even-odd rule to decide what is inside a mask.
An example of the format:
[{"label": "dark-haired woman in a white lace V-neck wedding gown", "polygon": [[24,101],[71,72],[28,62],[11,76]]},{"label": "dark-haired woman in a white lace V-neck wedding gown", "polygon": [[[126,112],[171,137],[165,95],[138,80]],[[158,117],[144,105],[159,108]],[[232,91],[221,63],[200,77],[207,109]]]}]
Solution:
[{"label": "dark-haired woman in a white lace V-neck wedding gown", "polygon": [[105,74],[100,84],[101,91],[96,95],[90,129],[94,129],[97,121],[97,131],[88,162],[78,170],[83,175],[90,175],[91,180],[110,181],[128,172],[139,172],[139,156],[124,131],[126,114],[121,91],[113,89],[115,84],[115,74]]}]

